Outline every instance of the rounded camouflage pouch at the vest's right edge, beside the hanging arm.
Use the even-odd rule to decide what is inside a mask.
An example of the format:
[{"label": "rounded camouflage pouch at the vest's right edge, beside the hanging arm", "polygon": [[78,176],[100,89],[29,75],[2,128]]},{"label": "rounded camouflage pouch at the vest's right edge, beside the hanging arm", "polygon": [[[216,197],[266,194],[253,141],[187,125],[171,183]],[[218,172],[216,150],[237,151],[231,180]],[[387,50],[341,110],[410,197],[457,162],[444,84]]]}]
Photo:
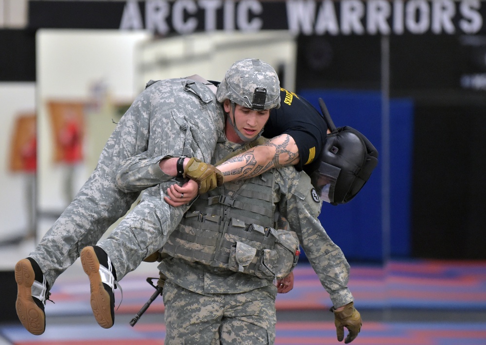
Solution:
[{"label": "rounded camouflage pouch at the vest's right edge, beside the hanging arm", "polygon": [[299,240],[294,231],[277,230],[278,240],[275,241],[277,253],[273,272],[277,279],[287,276],[294,269],[299,259]]}]

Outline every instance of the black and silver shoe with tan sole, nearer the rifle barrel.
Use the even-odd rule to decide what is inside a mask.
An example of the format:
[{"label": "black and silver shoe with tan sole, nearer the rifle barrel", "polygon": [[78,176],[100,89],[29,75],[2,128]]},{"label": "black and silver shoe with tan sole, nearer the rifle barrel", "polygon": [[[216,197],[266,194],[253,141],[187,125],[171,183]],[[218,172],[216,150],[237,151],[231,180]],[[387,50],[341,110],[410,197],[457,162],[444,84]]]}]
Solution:
[{"label": "black and silver shoe with tan sole, nearer the rifle barrel", "polygon": [[106,252],[96,245],[83,248],[81,264],[89,277],[93,315],[101,327],[110,328],[115,322],[115,268]]}]

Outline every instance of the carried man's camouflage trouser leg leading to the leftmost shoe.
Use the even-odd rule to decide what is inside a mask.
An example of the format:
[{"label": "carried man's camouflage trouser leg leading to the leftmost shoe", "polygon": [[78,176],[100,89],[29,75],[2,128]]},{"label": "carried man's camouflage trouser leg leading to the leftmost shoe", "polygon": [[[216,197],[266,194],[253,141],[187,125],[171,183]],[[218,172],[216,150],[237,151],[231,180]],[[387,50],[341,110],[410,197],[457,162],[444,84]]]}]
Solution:
[{"label": "carried man's camouflage trouser leg leading to the leftmost shoe", "polygon": [[[148,117],[126,114],[108,139],[95,171],[62,215],[29,254],[52,287],[57,277],[93,245],[108,227],[123,216],[139,192],[125,193],[115,186],[120,163],[147,150],[140,132],[148,131]],[[129,140],[133,138],[133,140]]]}]

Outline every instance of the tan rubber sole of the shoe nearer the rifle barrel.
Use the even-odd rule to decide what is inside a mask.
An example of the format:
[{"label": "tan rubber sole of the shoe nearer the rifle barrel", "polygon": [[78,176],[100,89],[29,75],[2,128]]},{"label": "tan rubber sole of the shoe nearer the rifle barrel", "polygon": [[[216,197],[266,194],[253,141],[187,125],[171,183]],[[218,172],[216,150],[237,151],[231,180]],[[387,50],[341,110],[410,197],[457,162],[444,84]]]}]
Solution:
[{"label": "tan rubber sole of the shoe nearer the rifle barrel", "polygon": [[93,311],[96,322],[103,328],[110,328],[113,326],[110,295],[104,289],[103,282],[101,281],[99,273],[100,261],[98,261],[93,247],[83,248],[81,251],[81,265],[89,277],[91,310]]}]

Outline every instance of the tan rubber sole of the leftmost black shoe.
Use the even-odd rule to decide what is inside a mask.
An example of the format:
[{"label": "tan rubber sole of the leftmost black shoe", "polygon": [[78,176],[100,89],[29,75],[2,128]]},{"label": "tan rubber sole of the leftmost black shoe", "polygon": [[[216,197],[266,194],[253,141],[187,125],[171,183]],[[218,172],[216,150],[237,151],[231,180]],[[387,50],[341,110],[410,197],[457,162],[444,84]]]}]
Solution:
[{"label": "tan rubber sole of the leftmost black shoe", "polygon": [[23,327],[35,335],[44,333],[46,329],[46,314],[32,298],[32,284],[35,272],[28,259],[21,259],[15,265],[15,281],[17,282],[17,301],[15,309]]}]

